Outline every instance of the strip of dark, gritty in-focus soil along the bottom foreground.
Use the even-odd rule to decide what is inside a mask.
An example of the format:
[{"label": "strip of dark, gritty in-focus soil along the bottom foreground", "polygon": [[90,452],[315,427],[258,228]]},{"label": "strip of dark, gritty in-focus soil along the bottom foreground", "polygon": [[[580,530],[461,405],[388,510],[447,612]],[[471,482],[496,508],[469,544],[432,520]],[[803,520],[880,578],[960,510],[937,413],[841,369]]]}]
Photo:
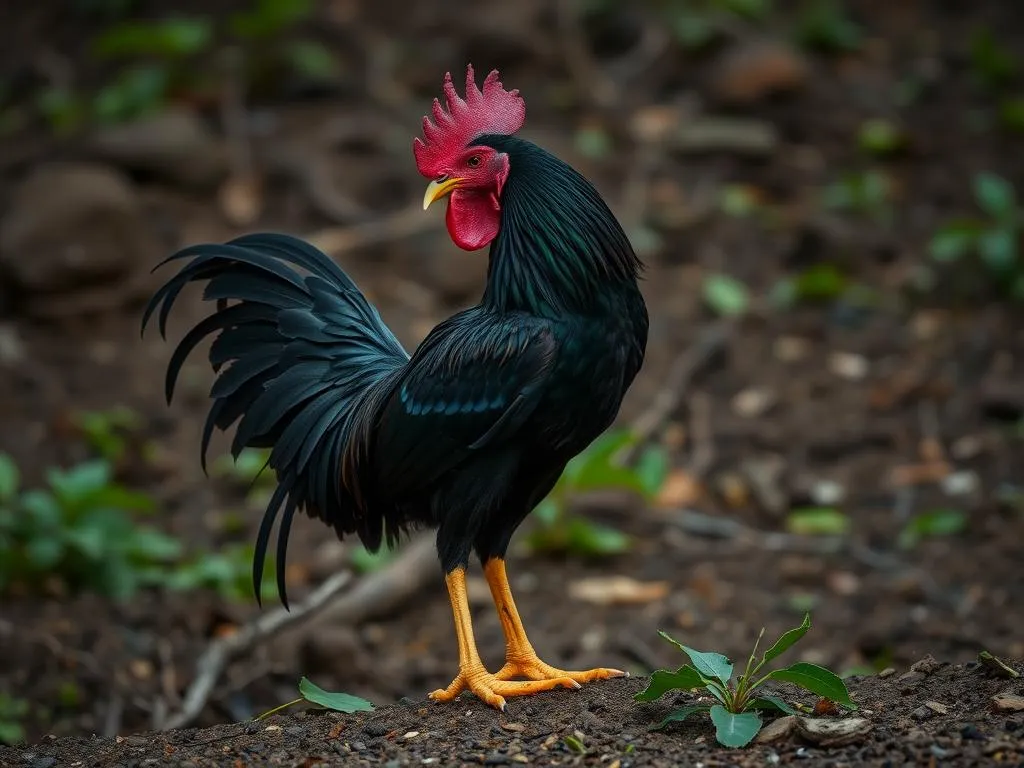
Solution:
[{"label": "strip of dark, gritty in-focus soil along the bottom foreground", "polygon": [[[993,678],[978,665],[936,665],[851,681],[858,717],[870,730],[845,744],[821,745],[791,733],[743,752],[715,743],[694,719],[652,731],[674,709],[638,706],[643,680],[611,680],[580,691],[509,703],[504,714],[473,696],[454,705],[404,700],[362,715],[310,711],[248,724],[111,738],[44,739],[2,749],[4,765],[600,765],[896,766],[1021,765],[1024,713],[993,712],[992,696],[1020,693],[1019,680]],[[926,666],[926,669],[931,669]],[[689,696],[681,695],[681,706]],[[767,733],[767,731],[766,731]]]}]

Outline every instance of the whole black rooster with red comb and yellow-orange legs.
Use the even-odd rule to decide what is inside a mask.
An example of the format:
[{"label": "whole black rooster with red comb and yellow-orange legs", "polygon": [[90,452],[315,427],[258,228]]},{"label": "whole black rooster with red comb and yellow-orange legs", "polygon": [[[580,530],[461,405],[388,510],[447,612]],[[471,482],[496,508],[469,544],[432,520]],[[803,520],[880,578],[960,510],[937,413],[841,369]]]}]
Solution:
[{"label": "whole black rooster with red comb and yellow-orange legs", "polygon": [[[278,479],[256,540],[257,593],[280,518],[278,589],[288,605],[285,556],[297,511],[339,538],[357,536],[371,552],[407,529],[436,528],[459,672],[430,696],[449,701],[469,690],[504,710],[507,696],[625,674],[541,660],[505,554],[565,464],[615,419],[643,362],[648,319],[641,263],[597,190],[515,135],[525,120],[519,92],[505,90],[497,71],[479,88],[470,66],[465,98],[451,74],[443,95],[413,151],[430,179],[424,210],[446,197],[455,244],[489,246],[478,305],[438,325],[410,355],[326,255],[293,237],[256,233],[163,262],[184,264],[154,294],[142,329],[159,308],[165,335],[189,283],[205,283],[204,298],[216,301],[174,350],[166,394],[170,402],[188,354],[216,334],[203,467],[213,430],[238,422],[232,454],[270,449]],[[473,638],[466,568],[474,552],[505,634],[505,666],[495,674]]]}]

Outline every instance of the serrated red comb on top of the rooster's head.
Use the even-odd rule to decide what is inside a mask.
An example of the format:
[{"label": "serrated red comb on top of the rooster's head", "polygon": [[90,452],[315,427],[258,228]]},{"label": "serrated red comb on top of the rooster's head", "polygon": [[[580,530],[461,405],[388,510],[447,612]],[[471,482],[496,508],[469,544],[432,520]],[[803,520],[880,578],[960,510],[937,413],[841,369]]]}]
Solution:
[{"label": "serrated red comb on top of the rooster's head", "polygon": [[484,133],[508,135],[522,127],[526,119],[526,104],[513,88],[505,90],[493,70],[483,80],[483,90],[476,87],[473,65],[466,68],[466,98],[456,92],[452,73],[444,73],[444,101],[434,99],[434,122],[423,118],[423,139],[413,141],[416,167],[427,178],[436,178],[444,170],[445,161],[477,136]]}]

